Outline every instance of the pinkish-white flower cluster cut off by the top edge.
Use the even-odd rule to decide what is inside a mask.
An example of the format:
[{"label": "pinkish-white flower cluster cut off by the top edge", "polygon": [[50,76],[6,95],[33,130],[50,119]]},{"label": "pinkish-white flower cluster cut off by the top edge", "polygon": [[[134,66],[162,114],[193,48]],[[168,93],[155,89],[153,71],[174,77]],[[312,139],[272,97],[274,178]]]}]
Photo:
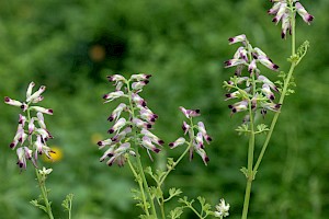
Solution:
[{"label": "pinkish-white flower cluster cut off by the top edge", "polygon": [[310,24],[310,22],[314,20],[314,16],[310,15],[297,0],[271,0],[271,2],[274,2],[274,4],[268,11],[268,13],[274,15],[272,21],[275,24],[277,24],[280,21],[282,22],[282,38],[286,37],[287,32],[291,34],[292,19],[296,16],[296,12],[307,24]]}]

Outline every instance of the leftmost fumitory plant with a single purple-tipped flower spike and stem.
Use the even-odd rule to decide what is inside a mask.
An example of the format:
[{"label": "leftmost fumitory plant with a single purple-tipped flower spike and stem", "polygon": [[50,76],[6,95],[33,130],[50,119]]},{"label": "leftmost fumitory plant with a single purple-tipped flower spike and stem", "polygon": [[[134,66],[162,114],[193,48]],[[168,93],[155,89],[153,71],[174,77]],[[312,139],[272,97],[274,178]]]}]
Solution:
[{"label": "leftmost fumitory plant with a single purple-tipped flower spike and stem", "polygon": [[[38,187],[41,188],[41,196],[38,199],[32,200],[31,204],[44,210],[53,219],[52,201],[48,200],[49,189],[46,187],[47,176],[53,172],[53,169],[44,166],[41,169],[38,166],[41,155],[45,154],[48,159],[52,159],[50,153],[55,153],[47,146],[48,139],[53,139],[53,136],[47,129],[44,119],[44,114],[53,115],[53,110],[35,105],[43,101],[44,96],[42,94],[46,90],[46,87],[42,85],[37,91],[33,92],[34,87],[34,82],[29,84],[24,102],[13,100],[9,96],[4,97],[4,103],[22,110],[22,114],[19,114],[18,130],[10,143],[10,148],[16,151],[16,164],[21,169],[21,172],[26,170],[27,162],[33,164]],[[64,200],[63,206],[68,209],[66,206],[71,206],[71,200],[72,195],[70,194]],[[68,210],[70,218],[70,208]]]}]

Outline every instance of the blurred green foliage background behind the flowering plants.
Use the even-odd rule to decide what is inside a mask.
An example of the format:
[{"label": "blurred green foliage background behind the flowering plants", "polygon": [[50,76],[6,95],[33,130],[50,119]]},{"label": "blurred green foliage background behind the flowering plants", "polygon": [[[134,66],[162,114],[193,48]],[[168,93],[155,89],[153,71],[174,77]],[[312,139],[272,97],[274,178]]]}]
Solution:
[{"label": "blurred green foliage background behind the flowering plants", "polygon": [[[329,1],[302,3],[315,21],[307,26],[298,18],[297,44],[308,39],[311,47],[296,69],[296,94],[286,99],[253,183],[250,219],[329,217]],[[224,102],[222,84],[232,69],[224,69],[223,62],[237,48],[227,38],[246,33],[287,70],[290,41],[281,39],[280,25],[266,14],[270,8],[259,0],[0,1],[0,94],[22,100],[31,81],[45,84],[42,104],[55,112],[45,116],[55,136],[49,146],[64,153],[60,161],[45,163],[54,169],[48,187],[55,217],[66,218],[60,203],[68,193],[75,194],[73,218],[140,214],[131,198],[135,184],[129,170],[100,163],[95,142],[111,126],[106,118],[113,107],[102,103],[102,95],[113,87],[105,77],[147,72],[154,77],[141,95],[159,115],[155,132],[166,142],[177,139],[182,105],[201,110],[214,139],[208,166],[198,157],[184,159],[166,186],[181,187],[190,198],[202,195],[213,205],[224,197],[230,218],[239,218],[247,139],[234,131],[242,115],[230,118]],[[20,174],[8,147],[19,112],[0,104],[0,218],[45,218],[29,204],[38,194],[32,165]],[[166,150],[155,164],[180,152]],[[186,210],[182,218],[194,216]]]}]

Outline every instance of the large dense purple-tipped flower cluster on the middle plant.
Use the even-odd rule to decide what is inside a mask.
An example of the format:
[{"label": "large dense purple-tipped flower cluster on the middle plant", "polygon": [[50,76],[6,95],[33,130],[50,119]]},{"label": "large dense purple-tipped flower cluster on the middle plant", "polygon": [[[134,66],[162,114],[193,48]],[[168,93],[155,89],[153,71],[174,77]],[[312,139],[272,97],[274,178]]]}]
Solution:
[{"label": "large dense purple-tipped flower cluster on the middle plant", "polygon": [[[109,81],[115,85],[115,91],[103,96],[104,103],[120,97],[123,101],[107,118],[109,122],[114,123],[107,131],[113,136],[98,142],[100,149],[107,148],[100,158],[101,162],[107,159],[106,164],[110,166],[114,162],[118,166],[124,165],[127,154],[136,155],[132,143],[145,148],[149,157],[149,151],[160,152],[161,149],[157,146],[162,146],[164,142],[149,130],[158,116],[147,107],[146,101],[139,95],[150,77],[144,73],[133,74],[128,80],[121,74],[107,77]],[[123,112],[127,114],[127,117],[122,116]]]}]

